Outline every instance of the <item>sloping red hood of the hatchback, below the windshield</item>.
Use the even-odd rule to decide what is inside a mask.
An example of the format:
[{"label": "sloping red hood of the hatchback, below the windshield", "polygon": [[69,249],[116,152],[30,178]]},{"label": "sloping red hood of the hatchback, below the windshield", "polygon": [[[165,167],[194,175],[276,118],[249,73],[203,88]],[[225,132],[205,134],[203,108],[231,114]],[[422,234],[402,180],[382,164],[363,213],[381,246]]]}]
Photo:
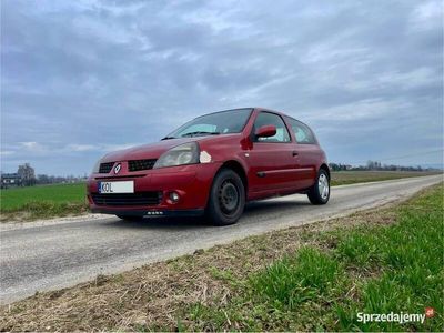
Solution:
[{"label": "sloping red hood of the hatchback, below the windshield", "polygon": [[179,144],[195,142],[208,137],[182,138],[162,140],[155,143],[137,145],[124,150],[114,151],[104,155],[101,162],[119,162],[129,160],[159,159],[162,153]]}]

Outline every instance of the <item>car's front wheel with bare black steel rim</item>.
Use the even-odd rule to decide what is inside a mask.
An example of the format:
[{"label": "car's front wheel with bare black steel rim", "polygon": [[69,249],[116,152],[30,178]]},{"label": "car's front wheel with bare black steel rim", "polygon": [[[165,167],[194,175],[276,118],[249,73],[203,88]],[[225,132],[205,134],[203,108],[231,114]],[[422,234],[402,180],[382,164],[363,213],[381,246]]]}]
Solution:
[{"label": "car's front wheel with bare black steel rim", "polygon": [[213,225],[238,222],[245,206],[245,188],[241,178],[231,169],[218,172],[210,190],[205,215]]}]

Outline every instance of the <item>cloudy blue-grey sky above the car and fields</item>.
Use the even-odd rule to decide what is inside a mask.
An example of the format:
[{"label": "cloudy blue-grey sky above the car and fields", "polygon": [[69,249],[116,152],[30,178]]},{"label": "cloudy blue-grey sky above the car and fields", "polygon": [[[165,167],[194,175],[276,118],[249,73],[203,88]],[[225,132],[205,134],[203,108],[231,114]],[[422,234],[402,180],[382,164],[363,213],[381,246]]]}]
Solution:
[{"label": "cloudy blue-grey sky above the car and fields", "polygon": [[1,170],[83,174],[260,105],[330,161],[440,164],[441,1],[1,1]]}]

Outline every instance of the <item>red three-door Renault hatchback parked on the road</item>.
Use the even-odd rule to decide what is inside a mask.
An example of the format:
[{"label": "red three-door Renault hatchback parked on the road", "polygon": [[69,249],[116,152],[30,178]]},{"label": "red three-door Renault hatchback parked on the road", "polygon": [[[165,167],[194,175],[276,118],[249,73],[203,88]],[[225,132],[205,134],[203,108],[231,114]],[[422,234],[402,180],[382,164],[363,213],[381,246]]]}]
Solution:
[{"label": "red three-door Renault hatchback parked on the road", "polygon": [[158,143],[104,155],[88,180],[93,212],[121,219],[203,215],[235,223],[245,202],[330,198],[324,151],[304,123],[261,108],[199,117]]}]

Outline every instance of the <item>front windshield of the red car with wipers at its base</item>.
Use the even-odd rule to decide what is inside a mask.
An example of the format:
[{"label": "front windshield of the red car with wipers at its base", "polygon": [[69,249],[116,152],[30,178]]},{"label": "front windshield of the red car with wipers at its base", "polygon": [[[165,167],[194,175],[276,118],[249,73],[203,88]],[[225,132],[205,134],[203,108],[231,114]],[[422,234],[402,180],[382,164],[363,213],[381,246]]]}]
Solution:
[{"label": "front windshield of the red car with wipers at its base", "polygon": [[235,109],[205,114],[185,123],[163,139],[240,133],[252,109]]}]

